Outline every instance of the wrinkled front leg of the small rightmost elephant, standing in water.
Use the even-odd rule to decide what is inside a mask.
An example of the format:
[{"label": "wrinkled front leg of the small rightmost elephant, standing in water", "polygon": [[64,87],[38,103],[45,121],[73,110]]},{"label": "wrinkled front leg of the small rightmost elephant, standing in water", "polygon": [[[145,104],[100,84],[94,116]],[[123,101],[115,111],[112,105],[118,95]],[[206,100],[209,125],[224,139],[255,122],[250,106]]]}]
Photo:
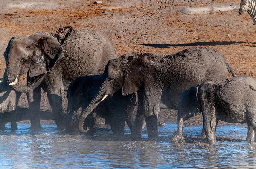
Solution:
[{"label": "wrinkled front leg of the small rightmost elephant, standing in water", "polygon": [[213,106],[203,106],[204,132],[209,143],[215,143],[216,115]]}]

